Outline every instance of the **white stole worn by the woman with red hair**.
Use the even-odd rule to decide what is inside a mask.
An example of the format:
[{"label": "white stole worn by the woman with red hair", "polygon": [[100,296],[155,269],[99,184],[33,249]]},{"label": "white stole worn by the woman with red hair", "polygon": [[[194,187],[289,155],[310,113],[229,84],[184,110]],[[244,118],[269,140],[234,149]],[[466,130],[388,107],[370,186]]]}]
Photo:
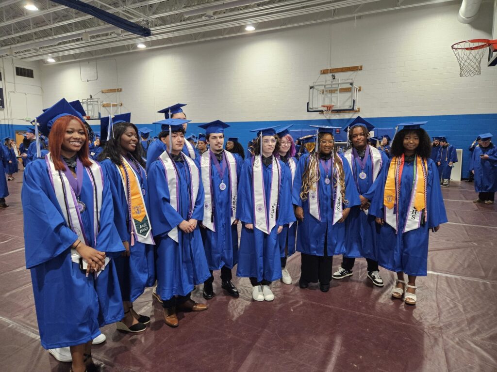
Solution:
[{"label": "white stole worn by the woman with red hair", "polygon": [[[96,247],[96,235],[98,233],[98,220],[100,219],[100,210],[102,209],[103,173],[98,163],[91,159],[89,159],[89,161],[91,162],[91,166],[84,167],[84,169],[88,174],[93,189],[93,241],[95,242],[95,247],[93,248],[98,249],[98,247]],[[50,172],[50,182],[52,184],[52,187],[54,188],[55,196],[62,210],[62,215],[64,217],[64,220],[66,221],[66,225],[76,235],[78,235],[78,239],[80,240],[80,242],[88,246],[89,241],[84,235],[83,222],[81,219],[80,208],[78,207],[78,201],[76,199],[76,194],[74,193],[69,180],[67,179],[64,172],[55,169],[51,153],[45,155],[45,162],[47,163],[48,170]],[[95,189],[96,193],[94,191]],[[97,206],[98,208],[95,208],[95,206]],[[66,211],[66,213],[64,213],[64,211]],[[87,211],[89,212],[89,210]],[[79,263],[80,258],[81,255],[77,252],[77,250],[75,248],[71,248],[71,260],[73,262]],[[105,268],[109,261],[110,259],[108,257],[105,257],[105,264],[102,267],[102,270]]]}]

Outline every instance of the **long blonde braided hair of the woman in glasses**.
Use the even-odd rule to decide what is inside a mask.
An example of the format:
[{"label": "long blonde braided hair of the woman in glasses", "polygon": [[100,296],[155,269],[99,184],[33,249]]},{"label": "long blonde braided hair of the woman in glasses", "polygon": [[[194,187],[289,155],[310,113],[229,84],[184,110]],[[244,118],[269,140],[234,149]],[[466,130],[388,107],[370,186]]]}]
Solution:
[{"label": "long blonde braided hair of the woman in glasses", "polygon": [[[319,133],[318,134],[318,143],[321,142],[321,139],[325,134],[330,134],[331,137],[334,137],[331,133]],[[316,150],[319,150],[319,146]],[[336,153],[336,151],[331,150],[331,156],[333,157],[333,176],[336,185],[340,185],[341,191],[340,194],[342,196],[342,200],[344,204],[348,204],[348,200],[345,199],[345,173],[343,171],[343,164],[341,162],[340,157]],[[319,170],[319,152],[314,151],[310,153],[309,157],[306,161],[306,168],[304,173],[302,174],[302,187],[300,189],[300,198],[302,200],[307,200],[309,196],[309,191],[316,191],[315,185],[318,184],[319,179],[321,178],[321,172]]]}]

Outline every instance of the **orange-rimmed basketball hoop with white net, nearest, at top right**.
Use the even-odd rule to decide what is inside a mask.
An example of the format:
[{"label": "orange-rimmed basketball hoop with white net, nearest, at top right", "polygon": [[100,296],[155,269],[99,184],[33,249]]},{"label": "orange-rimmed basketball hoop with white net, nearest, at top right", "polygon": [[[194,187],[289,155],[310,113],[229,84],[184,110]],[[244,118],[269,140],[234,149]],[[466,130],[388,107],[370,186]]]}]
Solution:
[{"label": "orange-rimmed basketball hoop with white net, nearest, at top right", "polygon": [[486,49],[491,45],[497,47],[497,40],[472,39],[453,44],[452,51],[461,68],[459,76],[480,75],[482,73],[482,58]]}]

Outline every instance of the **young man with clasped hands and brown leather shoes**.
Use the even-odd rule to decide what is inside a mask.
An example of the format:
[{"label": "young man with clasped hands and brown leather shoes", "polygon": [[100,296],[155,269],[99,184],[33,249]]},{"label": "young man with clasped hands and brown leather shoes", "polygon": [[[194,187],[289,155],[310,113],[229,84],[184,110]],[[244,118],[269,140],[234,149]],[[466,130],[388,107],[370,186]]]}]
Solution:
[{"label": "young man with clasped hands and brown leather shoes", "polygon": [[193,286],[210,276],[198,220],[204,216],[204,188],[196,163],[181,149],[184,146],[186,120],[166,119],[166,144],[159,160],[150,165],[150,220],[156,241],[157,292],[162,302],[164,320],[178,326],[177,311],[207,310],[190,298]]}]

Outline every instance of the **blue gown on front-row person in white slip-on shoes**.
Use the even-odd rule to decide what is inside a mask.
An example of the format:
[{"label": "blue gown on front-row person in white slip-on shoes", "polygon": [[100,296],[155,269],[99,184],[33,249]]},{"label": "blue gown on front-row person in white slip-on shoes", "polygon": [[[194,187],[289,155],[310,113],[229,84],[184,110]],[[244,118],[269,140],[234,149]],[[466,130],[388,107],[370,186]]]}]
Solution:
[{"label": "blue gown on front-row person in white slip-on shoes", "polygon": [[[245,160],[238,184],[237,218],[244,223],[240,239],[240,254],[238,257],[237,276],[274,281],[281,278],[281,259],[278,244],[278,226],[284,226],[295,221],[291,199],[292,175],[287,171],[285,164],[281,166],[281,186],[278,193],[279,209],[276,225],[266,234],[259,229],[249,230],[246,224],[253,224],[253,197],[252,197],[252,158]],[[266,207],[269,206],[271,190],[272,164],[262,164]]]}]

